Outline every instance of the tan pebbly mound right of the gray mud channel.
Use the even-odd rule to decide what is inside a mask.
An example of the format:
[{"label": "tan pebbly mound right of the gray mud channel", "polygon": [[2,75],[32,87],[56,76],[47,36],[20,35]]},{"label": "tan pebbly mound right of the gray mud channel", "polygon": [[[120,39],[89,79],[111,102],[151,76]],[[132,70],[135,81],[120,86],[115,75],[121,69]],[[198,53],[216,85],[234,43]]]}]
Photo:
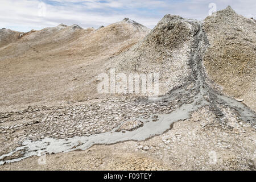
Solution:
[{"label": "tan pebbly mound right of the gray mud channel", "polygon": [[209,78],[255,110],[255,21],[228,6],[205,18],[204,30],[210,43],[204,55]]}]

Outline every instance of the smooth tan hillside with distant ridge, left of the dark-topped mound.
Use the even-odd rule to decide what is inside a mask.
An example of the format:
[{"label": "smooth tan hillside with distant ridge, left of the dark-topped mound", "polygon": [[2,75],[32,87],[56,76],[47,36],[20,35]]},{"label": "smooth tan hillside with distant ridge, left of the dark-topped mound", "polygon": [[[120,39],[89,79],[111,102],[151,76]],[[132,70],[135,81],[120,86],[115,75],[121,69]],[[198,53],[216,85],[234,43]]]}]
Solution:
[{"label": "smooth tan hillside with distant ridge, left of the dark-topped mound", "polygon": [[60,24],[20,32],[20,38],[18,32],[0,33],[6,31],[10,43],[0,44],[1,109],[96,97],[96,76],[104,72],[108,59],[150,30],[123,20],[99,30]]}]

